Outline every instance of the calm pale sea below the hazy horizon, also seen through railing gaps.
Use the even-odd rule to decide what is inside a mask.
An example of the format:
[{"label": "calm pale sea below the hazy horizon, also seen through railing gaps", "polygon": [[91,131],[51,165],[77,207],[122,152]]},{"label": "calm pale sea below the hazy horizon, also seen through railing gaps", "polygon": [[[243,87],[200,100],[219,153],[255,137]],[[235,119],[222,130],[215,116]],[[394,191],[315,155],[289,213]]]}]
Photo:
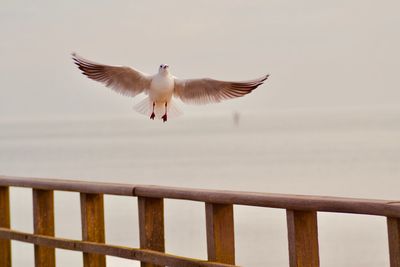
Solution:
[{"label": "calm pale sea below the hazy horizon, also seen through railing gaps", "polygon": [[[308,110],[166,124],[126,118],[0,121],[0,173],[135,184],[400,199],[400,110]],[[12,227],[31,232],[32,197],[12,189]],[[56,235],[81,238],[79,195],[57,192]],[[105,198],[109,243],[138,247],[137,202]],[[166,200],[167,252],[206,259],[202,203]],[[385,218],[320,213],[322,266],[388,266]],[[237,264],[288,266],[285,212],[236,207]],[[14,266],[33,247],[13,242]],[[108,266],[139,266],[108,257]],[[82,266],[57,250],[58,266]],[[136,264],[136,265],[135,265]]]}]

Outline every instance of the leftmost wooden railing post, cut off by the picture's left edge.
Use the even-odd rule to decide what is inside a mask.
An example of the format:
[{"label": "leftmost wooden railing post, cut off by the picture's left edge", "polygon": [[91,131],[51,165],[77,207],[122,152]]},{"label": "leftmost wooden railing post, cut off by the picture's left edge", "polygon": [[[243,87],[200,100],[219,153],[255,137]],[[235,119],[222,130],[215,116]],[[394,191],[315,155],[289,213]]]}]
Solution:
[{"label": "leftmost wooden railing post, cut off by the picture's left edge", "polygon": [[[10,228],[10,191],[0,186],[0,227]],[[0,267],[11,267],[11,240],[0,239]]]}]

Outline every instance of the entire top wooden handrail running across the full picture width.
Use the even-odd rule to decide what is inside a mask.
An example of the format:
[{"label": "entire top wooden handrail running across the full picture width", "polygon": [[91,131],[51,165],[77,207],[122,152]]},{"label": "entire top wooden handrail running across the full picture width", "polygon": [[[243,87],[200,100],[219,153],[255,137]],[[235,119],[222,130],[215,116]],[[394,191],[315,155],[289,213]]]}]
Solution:
[{"label": "entire top wooden handrail running across the full picture width", "polygon": [[217,204],[259,206],[289,210],[323,211],[400,217],[400,201],[327,196],[289,195],[167,186],[113,184],[1,176],[0,186],[193,200]]}]

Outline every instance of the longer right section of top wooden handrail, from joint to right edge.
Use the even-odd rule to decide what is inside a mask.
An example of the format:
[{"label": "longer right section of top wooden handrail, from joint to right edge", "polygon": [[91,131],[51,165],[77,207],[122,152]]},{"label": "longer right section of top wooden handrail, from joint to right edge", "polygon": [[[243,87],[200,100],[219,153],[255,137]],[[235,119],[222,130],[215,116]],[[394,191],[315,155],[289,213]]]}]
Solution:
[{"label": "longer right section of top wooden handrail, from joint to right edge", "polygon": [[161,186],[136,186],[134,195],[290,210],[400,217],[400,201],[389,200],[201,190]]}]

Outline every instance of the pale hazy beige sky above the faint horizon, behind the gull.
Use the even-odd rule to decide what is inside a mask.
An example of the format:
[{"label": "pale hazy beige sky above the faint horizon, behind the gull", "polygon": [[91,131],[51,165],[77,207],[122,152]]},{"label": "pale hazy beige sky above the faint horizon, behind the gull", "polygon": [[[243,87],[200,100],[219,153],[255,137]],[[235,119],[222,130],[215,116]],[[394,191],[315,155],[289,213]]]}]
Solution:
[{"label": "pale hazy beige sky above the faint horizon, behind the gull", "polygon": [[182,78],[271,74],[244,98],[181,104],[189,116],[397,108],[399,10],[397,0],[1,0],[0,119],[133,113],[134,100],[80,74],[73,51],[147,73],[168,63]]}]

